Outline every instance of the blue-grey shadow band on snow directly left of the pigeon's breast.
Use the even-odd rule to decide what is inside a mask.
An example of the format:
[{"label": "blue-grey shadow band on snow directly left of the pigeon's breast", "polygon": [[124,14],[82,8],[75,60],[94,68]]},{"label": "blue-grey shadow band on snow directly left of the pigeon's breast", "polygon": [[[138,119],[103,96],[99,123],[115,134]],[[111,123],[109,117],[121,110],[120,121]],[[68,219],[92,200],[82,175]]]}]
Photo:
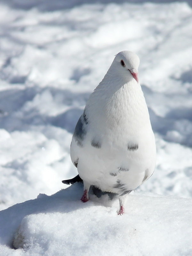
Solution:
[{"label": "blue-grey shadow band on snow directly left of the pigeon's breast", "polygon": [[[35,104],[26,107],[34,98],[49,92],[53,101],[60,105],[68,106],[69,109],[56,116],[42,114]],[[59,102],[58,100],[59,95]],[[61,127],[73,133],[75,125],[83,110],[74,108],[76,105],[85,105],[90,93],[73,93],[68,90],[57,88],[23,87],[0,92],[0,128],[12,132],[14,130],[27,131],[31,125],[53,125]],[[38,104],[38,103],[37,103]]]}]

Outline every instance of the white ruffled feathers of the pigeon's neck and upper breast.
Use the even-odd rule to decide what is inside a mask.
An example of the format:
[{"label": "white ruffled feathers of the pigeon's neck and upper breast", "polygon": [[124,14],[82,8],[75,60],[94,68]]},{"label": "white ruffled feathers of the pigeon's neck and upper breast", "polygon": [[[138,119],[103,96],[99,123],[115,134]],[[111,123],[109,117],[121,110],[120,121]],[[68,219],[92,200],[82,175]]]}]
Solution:
[{"label": "white ruffled feathers of the pigeon's neck and upper breast", "polygon": [[135,79],[127,82],[124,77],[116,77],[108,70],[87,101],[85,111],[94,120],[94,125],[130,123],[130,126],[137,127],[146,120],[150,123],[140,84]]}]

